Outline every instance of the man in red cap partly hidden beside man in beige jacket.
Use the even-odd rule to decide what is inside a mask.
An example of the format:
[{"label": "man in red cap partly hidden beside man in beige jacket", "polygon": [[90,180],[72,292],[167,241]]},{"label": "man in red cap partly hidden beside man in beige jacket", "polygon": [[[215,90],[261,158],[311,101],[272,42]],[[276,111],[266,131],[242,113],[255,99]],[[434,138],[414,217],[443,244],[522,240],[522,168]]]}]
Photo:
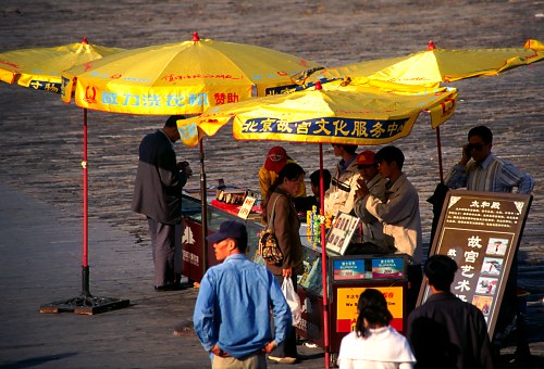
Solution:
[{"label": "man in red cap partly hidden beside man in beige jacket", "polygon": [[[359,177],[357,178],[357,187],[354,189],[355,214],[361,219],[362,224],[362,241],[369,243],[369,249],[386,252],[387,242],[383,234],[383,222],[367,211],[364,195],[361,191],[363,184],[367,186],[369,192],[385,202],[385,184],[387,178],[383,178],[378,171],[378,164],[374,161],[375,153],[371,150],[364,150],[357,155],[357,169]],[[372,247],[370,247],[372,246]]]}]

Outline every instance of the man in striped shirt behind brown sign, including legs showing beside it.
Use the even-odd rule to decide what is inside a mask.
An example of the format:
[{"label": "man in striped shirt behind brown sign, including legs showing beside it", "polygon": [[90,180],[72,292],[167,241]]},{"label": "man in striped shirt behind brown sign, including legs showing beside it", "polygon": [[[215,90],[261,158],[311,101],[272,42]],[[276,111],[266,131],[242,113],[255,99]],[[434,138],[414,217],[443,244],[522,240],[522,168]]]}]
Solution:
[{"label": "man in striped shirt behind brown sign, including legs showing beside it", "polygon": [[[485,126],[477,126],[469,130],[469,142],[462,148],[462,156],[446,177],[445,184],[450,189],[466,187],[469,191],[512,192],[529,194],[534,187],[534,179],[521,171],[511,163],[496,157],[493,147],[493,132]],[[472,158],[472,161],[471,161]],[[527,335],[524,333],[523,317],[520,314],[517,301],[518,260],[512,259],[510,275],[505,288],[503,304],[495,328],[493,344],[496,351],[500,348],[500,340],[511,332],[512,322],[516,329],[516,360],[526,360],[531,357]]]}]

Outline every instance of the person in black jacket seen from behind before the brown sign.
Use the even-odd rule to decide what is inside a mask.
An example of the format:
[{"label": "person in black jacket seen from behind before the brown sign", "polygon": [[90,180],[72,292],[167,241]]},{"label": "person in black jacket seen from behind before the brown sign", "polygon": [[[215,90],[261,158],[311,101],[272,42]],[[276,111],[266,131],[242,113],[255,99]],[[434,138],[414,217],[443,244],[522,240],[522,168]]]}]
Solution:
[{"label": "person in black jacket seen from behind before the brown sign", "polygon": [[418,369],[494,368],[482,311],[449,291],[456,271],[457,263],[446,255],[433,255],[425,263],[425,281],[433,294],[407,320]]}]

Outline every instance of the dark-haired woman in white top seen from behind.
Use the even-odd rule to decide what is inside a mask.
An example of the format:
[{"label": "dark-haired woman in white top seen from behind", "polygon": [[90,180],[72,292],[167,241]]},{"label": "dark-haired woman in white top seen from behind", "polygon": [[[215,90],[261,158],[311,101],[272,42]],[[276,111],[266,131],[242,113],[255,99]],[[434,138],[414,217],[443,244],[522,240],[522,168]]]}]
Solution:
[{"label": "dark-haired woman in white top seen from behind", "polygon": [[342,339],[339,368],[413,368],[416,357],[408,341],[390,326],[393,316],[383,293],[364,290],[357,311],[355,331]]}]

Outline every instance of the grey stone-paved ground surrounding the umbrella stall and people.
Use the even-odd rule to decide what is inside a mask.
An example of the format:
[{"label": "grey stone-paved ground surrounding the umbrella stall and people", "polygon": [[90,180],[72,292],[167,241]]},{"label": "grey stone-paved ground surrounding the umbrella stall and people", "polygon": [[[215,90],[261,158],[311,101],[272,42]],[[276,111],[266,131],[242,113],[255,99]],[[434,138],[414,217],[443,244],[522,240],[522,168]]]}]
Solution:
[{"label": "grey stone-paved ground surrounding the umbrella stall and people", "polygon": [[[416,52],[430,39],[447,49],[520,47],[527,38],[544,39],[543,13],[543,1],[515,0],[4,0],[0,52],[71,43],[84,36],[99,44],[135,48],[186,40],[198,30],[201,37],[270,47],[333,66]],[[457,160],[468,128],[487,124],[495,131],[494,150],[537,181],[519,280],[531,292],[531,349],[541,357],[543,67],[455,84],[458,109],[441,128],[446,167]],[[41,304],[81,292],[82,117],[81,109],[52,93],[0,86],[0,368],[206,367],[195,338],[171,335],[173,325],[191,315],[196,292],[152,291],[145,221],[129,212],[137,145],[164,117],[89,113],[90,290],[96,296],[128,298],[132,306],[91,317],[38,313]],[[421,116],[412,135],[397,144],[420,191],[428,237],[431,208],[424,200],[438,180],[428,118]],[[257,170],[270,145],[242,144],[227,130],[206,139],[209,182],[224,178],[257,189]],[[317,168],[314,145],[285,147],[308,171]],[[178,147],[178,152],[194,163],[198,178],[198,151]],[[325,165],[334,161],[329,153]],[[506,347],[504,358],[511,351]],[[304,354],[310,358],[299,367],[323,367],[319,351]]]}]

